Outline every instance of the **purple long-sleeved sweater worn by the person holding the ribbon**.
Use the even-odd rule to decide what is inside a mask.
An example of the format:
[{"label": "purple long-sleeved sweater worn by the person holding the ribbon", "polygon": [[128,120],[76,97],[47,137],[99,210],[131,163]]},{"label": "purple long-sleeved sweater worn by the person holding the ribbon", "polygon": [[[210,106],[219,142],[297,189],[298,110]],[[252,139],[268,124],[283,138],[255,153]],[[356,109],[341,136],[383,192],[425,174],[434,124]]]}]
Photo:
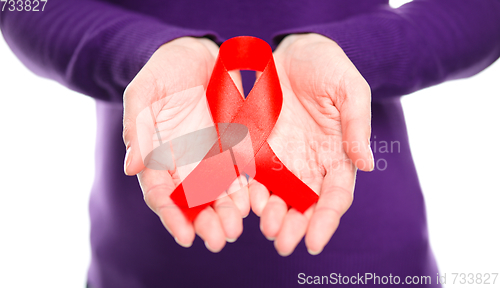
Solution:
[{"label": "purple long-sleeved sweater worn by the person holding the ribbon", "polygon": [[[423,275],[439,286],[398,96],[495,61],[499,0],[415,0],[398,9],[387,0],[49,0],[44,12],[7,10],[0,27],[21,61],[97,100],[91,287],[293,287],[299,273]],[[123,174],[125,86],[177,37],[220,43],[252,35],[275,47],[297,32],[335,40],[370,84],[375,171],[358,174],[354,204],[318,256],[303,243],[279,256],[252,213],[241,237],[218,254],[199,238],[180,247],[144,203],[137,179]]]}]

